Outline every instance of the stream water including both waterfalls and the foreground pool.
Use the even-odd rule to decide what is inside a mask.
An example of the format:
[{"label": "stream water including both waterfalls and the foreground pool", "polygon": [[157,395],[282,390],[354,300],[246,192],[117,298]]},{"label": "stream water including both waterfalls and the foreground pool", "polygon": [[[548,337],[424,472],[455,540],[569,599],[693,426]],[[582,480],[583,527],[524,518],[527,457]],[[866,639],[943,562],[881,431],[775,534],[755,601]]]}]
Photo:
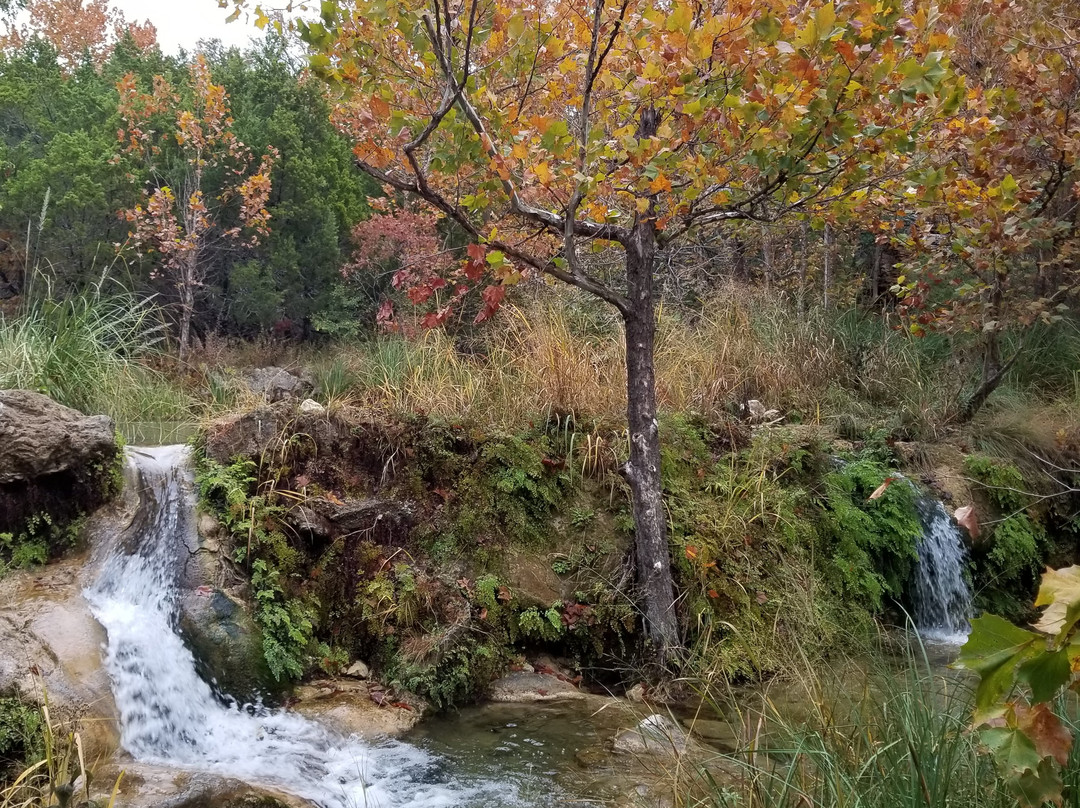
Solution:
[{"label": "stream water including both waterfalls and the foreground pool", "polygon": [[[135,759],[270,786],[321,808],[595,804],[624,794],[637,777],[610,752],[611,737],[634,723],[625,702],[471,708],[424,722],[406,741],[366,743],[296,713],[222,700],[197,673],[177,628],[181,536],[193,513],[188,449],[130,456],[143,506],[104,551],[84,595],[107,632],[120,742]],[[927,514],[917,594],[948,592],[918,602],[917,624],[955,639],[970,597],[962,578],[943,576],[959,575],[963,544],[944,510]],[[711,739],[720,749],[721,741]]]}]

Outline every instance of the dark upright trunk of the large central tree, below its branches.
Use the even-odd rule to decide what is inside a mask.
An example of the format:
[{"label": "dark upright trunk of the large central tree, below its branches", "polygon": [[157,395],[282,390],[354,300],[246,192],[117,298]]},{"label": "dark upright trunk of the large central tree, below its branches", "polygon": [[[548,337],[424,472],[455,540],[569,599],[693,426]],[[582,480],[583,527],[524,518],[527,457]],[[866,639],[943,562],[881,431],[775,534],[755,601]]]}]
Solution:
[{"label": "dark upright trunk of the large central tree, below its branches", "polygon": [[624,472],[633,494],[634,548],[646,638],[656,659],[664,664],[678,647],[678,621],[660,479],[660,431],[653,364],[656,311],[652,265],[656,252],[656,225],[650,217],[640,218],[626,245],[630,307],[624,321],[630,461]]}]

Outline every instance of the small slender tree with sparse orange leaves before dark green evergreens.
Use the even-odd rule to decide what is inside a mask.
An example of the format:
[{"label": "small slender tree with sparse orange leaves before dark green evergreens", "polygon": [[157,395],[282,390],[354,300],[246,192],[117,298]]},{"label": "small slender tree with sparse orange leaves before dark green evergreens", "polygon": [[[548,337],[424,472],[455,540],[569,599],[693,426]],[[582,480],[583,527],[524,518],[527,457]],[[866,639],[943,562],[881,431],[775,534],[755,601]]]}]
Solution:
[{"label": "small slender tree with sparse orange leaves before dark green evergreens", "polygon": [[[187,358],[195,293],[210,271],[205,260],[222,242],[254,246],[269,231],[266,208],[276,150],[257,165],[233,133],[229,97],[211,81],[206,59],[191,64],[191,99],[185,104],[162,77],[138,90],[127,73],[118,84],[121,153],[143,162],[152,177],[143,202],[123,213],[132,241],[156,254],[179,296],[179,353]],[[172,158],[166,160],[166,158]]]}]

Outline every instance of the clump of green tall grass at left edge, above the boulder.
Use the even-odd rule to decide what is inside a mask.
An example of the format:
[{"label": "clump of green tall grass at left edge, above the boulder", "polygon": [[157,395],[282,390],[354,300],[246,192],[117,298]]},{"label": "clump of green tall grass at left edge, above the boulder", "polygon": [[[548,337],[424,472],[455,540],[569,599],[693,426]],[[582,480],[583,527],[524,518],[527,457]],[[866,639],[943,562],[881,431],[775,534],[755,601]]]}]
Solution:
[{"label": "clump of green tall grass at left edge, above the boulder", "polygon": [[152,302],[104,281],[63,298],[41,283],[14,315],[0,315],[0,388],[122,422],[191,418],[190,398],[148,364],[164,328]]}]

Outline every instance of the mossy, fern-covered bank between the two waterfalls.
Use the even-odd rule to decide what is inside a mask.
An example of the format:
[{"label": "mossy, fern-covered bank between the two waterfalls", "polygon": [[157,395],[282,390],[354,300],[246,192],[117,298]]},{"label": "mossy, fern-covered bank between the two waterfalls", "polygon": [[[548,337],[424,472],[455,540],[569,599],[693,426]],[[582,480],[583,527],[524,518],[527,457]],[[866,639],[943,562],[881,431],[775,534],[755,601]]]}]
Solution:
[{"label": "mossy, fern-covered bank between the two waterfalls", "polygon": [[[869,498],[896,475],[889,442],[689,416],[662,429],[688,670],[779,671],[793,648],[825,654],[901,615],[920,527],[912,486]],[[275,676],[360,658],[445,706],[526,652],[606,685],[639,676],[624,455],[624,433],[568,417],[507,433],[279,404],[212,426],[199,482]],[[994,534],[976,579],[1013,558]]]}]

